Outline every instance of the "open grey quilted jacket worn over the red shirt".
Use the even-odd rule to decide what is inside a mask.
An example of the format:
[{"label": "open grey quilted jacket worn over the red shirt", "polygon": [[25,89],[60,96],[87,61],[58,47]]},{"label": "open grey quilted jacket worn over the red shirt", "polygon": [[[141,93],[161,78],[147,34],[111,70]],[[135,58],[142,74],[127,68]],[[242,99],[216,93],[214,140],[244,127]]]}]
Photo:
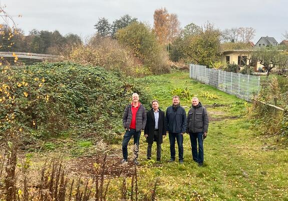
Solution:
[{"label": "open grey quilted jacket worn over the red shirt", "polygon": [[[139,109],[136,113],[136,131],[141,131],[145,129],[146,121],[147,121],[147,115],[146,115],[146,109],[145,107],[139,103]],[[132,121],[132,105],[129,104],[126,106],[123,114],[123,127],[124,129],[129,129],[130,124]]]}]

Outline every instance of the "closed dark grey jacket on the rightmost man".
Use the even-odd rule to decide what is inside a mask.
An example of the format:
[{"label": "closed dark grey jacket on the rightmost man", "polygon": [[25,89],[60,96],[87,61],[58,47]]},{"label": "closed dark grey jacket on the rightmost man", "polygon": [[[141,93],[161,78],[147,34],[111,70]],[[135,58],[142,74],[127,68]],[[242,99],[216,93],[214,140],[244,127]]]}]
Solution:
[{"label": "closed dark grey jacket on the rightmost man", "polygon": [[208,114],[202,104],[199,102],[198,106],[192,106],[187,115],[186,133],[207,133],[208,125]]}]

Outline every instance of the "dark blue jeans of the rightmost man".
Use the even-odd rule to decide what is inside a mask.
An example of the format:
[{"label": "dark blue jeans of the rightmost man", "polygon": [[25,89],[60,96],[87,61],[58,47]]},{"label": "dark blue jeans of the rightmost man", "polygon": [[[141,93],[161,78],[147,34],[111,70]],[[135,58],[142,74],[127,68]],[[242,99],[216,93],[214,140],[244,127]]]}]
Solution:
[{"label": "dark blue jeans of the rightmost man", "polygon": [[[190,142],[191,142],[191,147],[192,147],[193,160],[201,164],[204,162],[204,149],[203,149],[203,139],[202,139],[203,132],[189,133],[189,135],[190,135]],[[197,140],[198,140],[198,151],[197,151]]]}]

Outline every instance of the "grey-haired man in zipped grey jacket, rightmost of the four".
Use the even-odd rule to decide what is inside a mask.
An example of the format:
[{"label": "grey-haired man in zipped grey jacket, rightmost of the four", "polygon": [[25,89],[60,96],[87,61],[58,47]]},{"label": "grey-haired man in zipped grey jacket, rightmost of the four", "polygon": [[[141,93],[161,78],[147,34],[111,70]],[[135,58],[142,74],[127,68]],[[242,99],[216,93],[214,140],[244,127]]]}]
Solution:
[{"label": "grey-haired man in zipped grey jacket, rightmost of the four", "polygon": [[207,136],[209,120],[206,109],[201,105],[197,97],[192,98],[192,108],[188,112],[187,125],[186,133],[190,135],[193,160],[197,162],[199,166],[203,166],[203,140]]}]

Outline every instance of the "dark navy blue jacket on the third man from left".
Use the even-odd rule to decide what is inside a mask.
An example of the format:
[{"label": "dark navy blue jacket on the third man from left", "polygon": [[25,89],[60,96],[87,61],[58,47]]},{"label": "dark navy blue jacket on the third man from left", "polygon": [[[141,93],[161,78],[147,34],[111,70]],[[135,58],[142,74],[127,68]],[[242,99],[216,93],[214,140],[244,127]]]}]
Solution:
[{"label": "dark navy blue jacket on the third man from left", "polygon": [[166,128],[170,133],[185,133],[187,127],[186,112],[179,106],[175,111],[172,106],[166,110]]}]

